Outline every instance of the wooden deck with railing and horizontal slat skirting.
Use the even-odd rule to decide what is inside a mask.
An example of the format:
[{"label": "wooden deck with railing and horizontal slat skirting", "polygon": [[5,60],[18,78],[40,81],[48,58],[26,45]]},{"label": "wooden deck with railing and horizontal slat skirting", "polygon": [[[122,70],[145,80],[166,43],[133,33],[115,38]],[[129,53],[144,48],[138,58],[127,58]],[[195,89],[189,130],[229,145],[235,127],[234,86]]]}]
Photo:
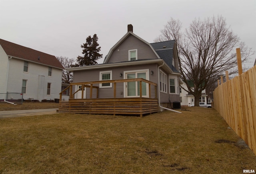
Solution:
[{"label": "wooden deck with railing and horizontal slat skirting", "polygon": [[[93,86],[99,83],[113,83],[114,94],[113,98],[98,98],[98,86]],[[133,98],[116,98],[116,83],[124,82],[140,82],[140,96]],[[148,98],[142,97],[142,82],[148,84]],[[79,90],[72,92],[74,85],[82,85],[83,87],[90,88],[90,98],[75,99],[74,94]],[[150,86],[154,86],[154,96],[151,95]],[[156,98],[156,84],[143,78],[124,79],[124,80],[107,80],[97,82],[82,82],[71,83],[70,86],[70,99],[68,101],[62,101],[62,92],[60,93],[59,112],[60,113],[87,113],[87,114],[120,114],[120,115],[142,115],[148,113],[158,112],[158,99]],[[96,88],[96,98],[92,98],[92,91]],[[82,91],[83,96],[83,91]]]}]

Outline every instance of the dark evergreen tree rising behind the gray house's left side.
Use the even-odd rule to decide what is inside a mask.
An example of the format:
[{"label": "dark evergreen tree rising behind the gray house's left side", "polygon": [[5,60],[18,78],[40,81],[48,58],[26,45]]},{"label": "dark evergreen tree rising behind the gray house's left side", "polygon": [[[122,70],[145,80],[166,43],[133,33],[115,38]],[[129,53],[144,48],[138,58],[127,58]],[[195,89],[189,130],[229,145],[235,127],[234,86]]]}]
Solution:
[{"label": "dark evergreen tree rising behind the gray house's left side", "polygon": [[97,41],[98,37],[96,34],[94,34],[93,37],[88,36],[86,38],[86,43],[81,45],[81,48],[83,49],[82,54],[84,54],[84,56],[77,57],[77,63],[74,65],[75,67],[97,64],[97,60],[102,58],[102,54],[99,53],[101,47],[99,47]]}]

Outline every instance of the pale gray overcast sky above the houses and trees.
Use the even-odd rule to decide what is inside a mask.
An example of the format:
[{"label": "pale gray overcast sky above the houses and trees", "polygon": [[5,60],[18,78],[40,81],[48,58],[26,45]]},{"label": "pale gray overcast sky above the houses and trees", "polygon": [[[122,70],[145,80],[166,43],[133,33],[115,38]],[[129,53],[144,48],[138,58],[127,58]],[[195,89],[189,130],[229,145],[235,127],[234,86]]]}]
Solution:
[{"label": "pale gray overcast sky above the houses and trees", "polygon": [[256,51],[256,0],[0,0],[0,38],[76,59],[86,37],[96,33],[102,63],[128,24],[152,43],[171,17],[185,29],[195,18],[218,15]]}]

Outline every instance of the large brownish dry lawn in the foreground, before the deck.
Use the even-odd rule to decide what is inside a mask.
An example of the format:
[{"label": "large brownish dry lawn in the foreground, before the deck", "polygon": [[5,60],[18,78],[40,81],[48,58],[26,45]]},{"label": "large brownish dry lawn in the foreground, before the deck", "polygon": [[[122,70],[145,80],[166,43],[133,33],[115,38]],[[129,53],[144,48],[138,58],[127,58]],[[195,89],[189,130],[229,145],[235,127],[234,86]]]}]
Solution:
[{"label": "large brownish dry lawn in the foreground, before the deck", "polygon": [[0,173],[241,174],[254,153],[211,108],[143,118],[53,114],[0,119]]}]

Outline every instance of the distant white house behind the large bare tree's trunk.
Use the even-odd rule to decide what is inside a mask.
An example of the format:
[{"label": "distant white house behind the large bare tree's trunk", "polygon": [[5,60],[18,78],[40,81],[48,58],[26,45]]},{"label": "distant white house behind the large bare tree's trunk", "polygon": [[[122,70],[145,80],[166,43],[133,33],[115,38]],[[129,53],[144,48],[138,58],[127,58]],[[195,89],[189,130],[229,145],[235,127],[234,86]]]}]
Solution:
[{"label": "distant white house behind the large bare tree's trunk", "polygon": [[[182,84],[180,85],[183,88],[185,88],[186,90],[188,90],[187,85],[182,82]],[[192,82],[189,82],[189,86],[193,88],[194,84]],[[191,106],[194,105],[195,103],[195,98],[192,94],[186,92],[186,90],[184,90],[183,88],[180,87],[180,105],[181,106]],[[200,97],[199,102],[206,102],[207,103],[207,95],[206,95],[206,91],[203,90],[202,91],[202,96]]]}]

